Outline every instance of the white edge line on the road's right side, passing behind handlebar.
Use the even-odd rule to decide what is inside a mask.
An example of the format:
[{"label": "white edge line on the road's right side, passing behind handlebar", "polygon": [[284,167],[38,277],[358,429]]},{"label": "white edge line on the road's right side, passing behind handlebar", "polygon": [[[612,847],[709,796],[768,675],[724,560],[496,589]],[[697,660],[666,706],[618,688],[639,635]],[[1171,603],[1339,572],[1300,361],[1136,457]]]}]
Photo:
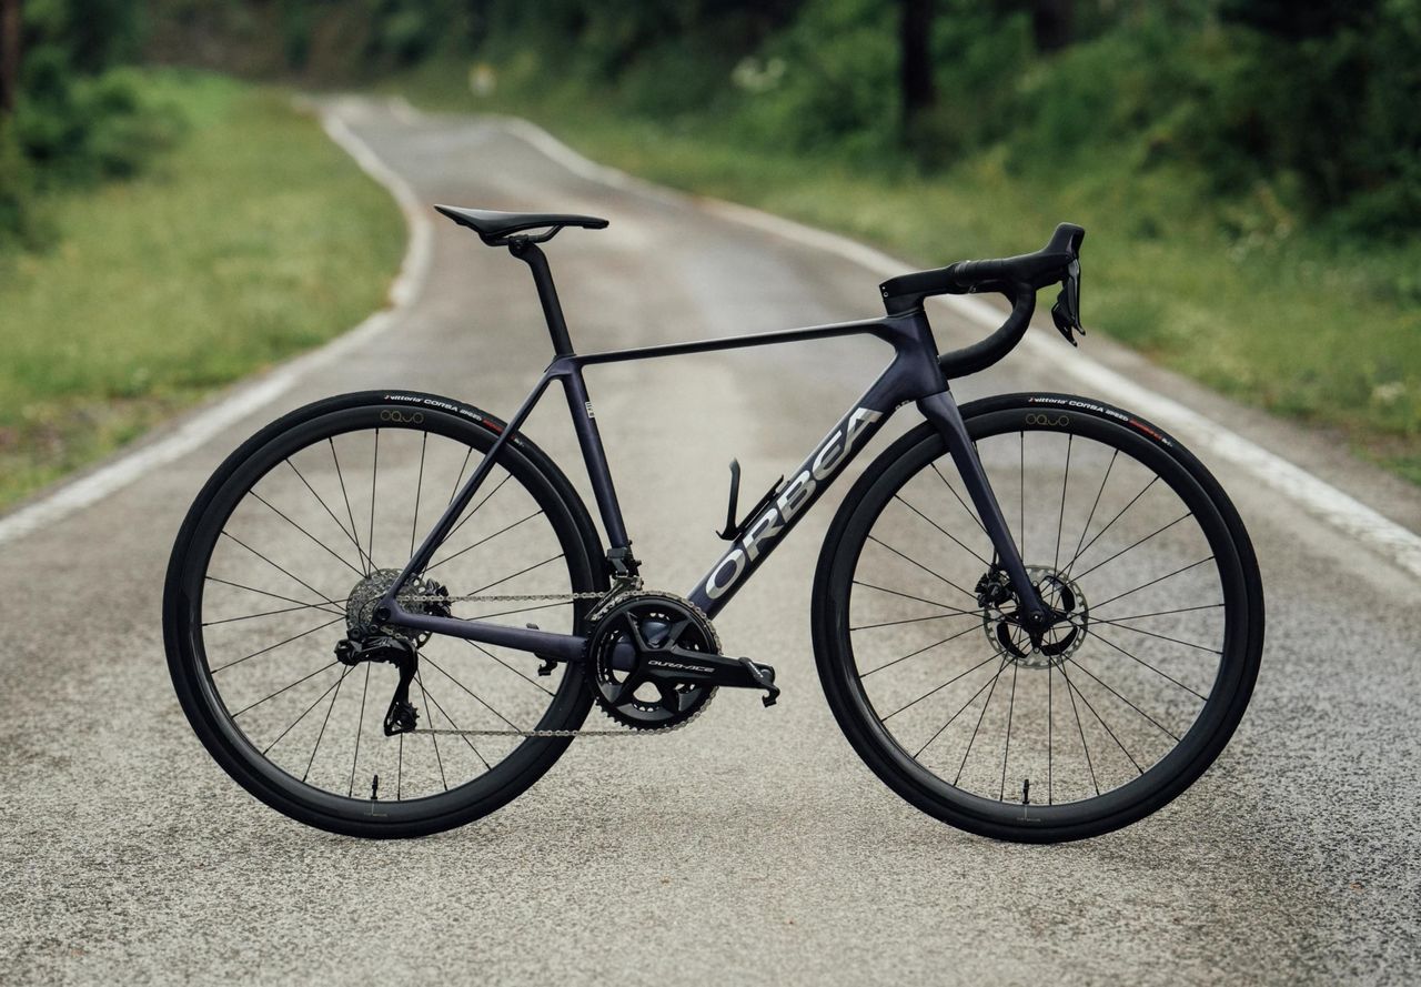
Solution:
[{"label": "white edge line on the road's right side, passing behind handlebar", "polygon": [[[895,260],[881,250],[864,246],[837,233],[817,230],[739,203],[682,196],[614,168],[598,165],[530,121],[496,118],[496,122],[503,129],[522,138],[546,156],[567,168],[567,170],[584,179],[621,190],[645,193],[662,202],[676,200],[689,203],[712,214],[753,226],[786,240],[838,254],[844,260],[853,261],[880,277],[887,278],[917,270],[912,264]],[[986,329],[996,329],[1005,317],[1000,310],[972,295],[945,295],[935,301]],[[1027,347],[1033,356],[1050,361],[1056,368],[1066,371],[1093,391],[1108,395],[1111,402],[1118,402],[1179,436],[1196,453],[1205,452],[1215,459],[1225,460],[1252,473],[1269,487],[1296,501],[1314,517],[1361,541],[1412,575],[1421,577],[1421,537],[1415,533],[1383,517],[1356,497],[1343,493],[1326,480],[1313,476],[1307,470],[1245,439],[1205,415],[1140,386],[1130,378],[1098,364],[1079,349],[1073,349],[1064,344],[1056,344],[1054,339],[1037,334],[1027,334],[1023,339],[1023,345]]]}]

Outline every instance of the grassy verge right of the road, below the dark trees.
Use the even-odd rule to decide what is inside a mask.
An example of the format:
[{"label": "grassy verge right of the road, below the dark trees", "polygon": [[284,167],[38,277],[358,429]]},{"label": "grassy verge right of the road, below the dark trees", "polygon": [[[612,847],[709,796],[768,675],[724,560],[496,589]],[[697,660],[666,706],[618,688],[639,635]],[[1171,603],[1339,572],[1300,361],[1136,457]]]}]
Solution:
[{"label": "grassy verge right of the road, below the dark trees", "polygon": [[514,84],[475,99],[465,68],[449,64],[392,87],[428,108],[529,116],[595,160],[922,266],[1034,250],[1057,222],[1081,223],[1090,328],[1421,483],[1415,244],[1349,251],[1293,234],[1266,197],[1201,209],[1196,179],[1137,169],[1110,149],[1070,172],[1013,175],[988,152],[924,176],[770,151],[713,119],[628,116],[585,91]]}]

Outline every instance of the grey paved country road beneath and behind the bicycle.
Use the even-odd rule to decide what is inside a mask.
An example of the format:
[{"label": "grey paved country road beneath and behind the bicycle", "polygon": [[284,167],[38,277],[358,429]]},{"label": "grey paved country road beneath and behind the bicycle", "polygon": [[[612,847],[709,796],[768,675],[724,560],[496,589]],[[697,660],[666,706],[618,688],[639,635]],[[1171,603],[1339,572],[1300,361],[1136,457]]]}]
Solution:
[{"label": "grey paved country road beneath and behind the bicycle", "polygon": [[[549,250],[585,349],[878,305],[878,278],[844,257],[691,200],[588,180],[497,122],[357,102],[342,114],[423,202],[610,217]],[[1086,305],[1088,321],[1088,294]],[[980,334],[946,310],[935,325],[945,345]],[[1123,832],[989,842],[918,814],[860,764],[809,642],[833,501],[718,621],[729,653],[779,667],[777,707],[722,692],[672,736],[576,741],[507,808],[415,842],[333,836],[247,797],[193,737],[163,665],[163,567],[192,496],[246,435],[320,396],[418,388],[509,413],[547,347],[526,268],[441,222],[425,291],[382,335],[198,452],[0,548],[0,981],[1421,977],[1421,585],[1228,464],[1214,463],[1268,589],[1263,672],[1221,761]],[[1094,335],[1086,347],[1415,528],[1412,490]],[[837,341],[591,373],[648,584],[684,594],[716,557],[732,456],[747,491],[767,486],[880,364],[874,344]],[[958,391],[1032,388],[1069,381],[1016,354]],[[554,399],[530,433],[577,477],[564,427]]]}]

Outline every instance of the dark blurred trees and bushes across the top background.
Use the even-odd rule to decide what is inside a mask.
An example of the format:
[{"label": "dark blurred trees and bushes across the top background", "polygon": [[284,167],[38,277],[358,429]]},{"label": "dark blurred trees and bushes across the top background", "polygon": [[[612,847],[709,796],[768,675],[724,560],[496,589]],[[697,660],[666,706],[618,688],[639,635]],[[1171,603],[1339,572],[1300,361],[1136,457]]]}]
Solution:
[{"label": "dark blurred trees and bushes across the top background", "polygon": [[1013,170],[1110,148],[1211,197],[1266,186],[1290,223],[1421,226],[1421,0],[0,0],[0,55],[11,234],[36,187],[171,139],[125,64],[334,85],[462,55],[772,146]]}]

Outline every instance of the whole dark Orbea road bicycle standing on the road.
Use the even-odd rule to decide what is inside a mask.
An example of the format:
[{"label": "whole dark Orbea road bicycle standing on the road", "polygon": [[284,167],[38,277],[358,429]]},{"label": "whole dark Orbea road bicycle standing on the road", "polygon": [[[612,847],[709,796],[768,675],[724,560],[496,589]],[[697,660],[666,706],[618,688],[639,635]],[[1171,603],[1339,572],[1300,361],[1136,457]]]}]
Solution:
[{"label": "whole dark Orbea road bicycle standing on the road", "polygon": [[[1263,591],[1215,479],[1100,400],[958,406],[948,386],[1012,351],[1042,288],[1060,285],[1052,317],[1076,345],[1081,227],[884,281],[881,318],[577,354],[539,244],[607,220],[436,209],[529,266],[553,361],[507,422],[401,389],[318,400],[203,487],[168,569],[168,665],[202,743],[259,800],[340,834],[433,834],[522,794],[574,737],[685,727],[719,687],[773,704],[774,669],[722,653],[712,619],[907,403],[924,420],[848,490],[814,575],[818,676],[863,761],[938,819],[1053,842],[1154,812],[1222,751],[1258,675]],[[975,291],[1010,315],[939,355],[925,298]],[[723,554],[686,596],[648,588],[584,368],[845,335],[887,344],[882,373],[743,516],[732,463]],[[554,382],[605,545],[522,433]],[[675,496],[675,477],[654,481]],[[605,720],[584,729],[594,706]]]}]

